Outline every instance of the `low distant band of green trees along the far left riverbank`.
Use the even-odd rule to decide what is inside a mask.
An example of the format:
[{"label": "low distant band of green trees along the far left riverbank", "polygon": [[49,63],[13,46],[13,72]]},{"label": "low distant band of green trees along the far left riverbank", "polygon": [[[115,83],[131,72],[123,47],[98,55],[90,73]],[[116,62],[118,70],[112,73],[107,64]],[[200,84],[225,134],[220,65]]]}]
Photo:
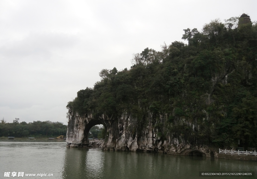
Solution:
[{"label": "low distant band of green trees along the far left riverbank", "polygon": [[4,119],[0,123],[0,137],[58,137],[65,135],[67,126],[59,122],[33,121],[30,123],[20,122],[19,119],[13,123],[5,123]]}]

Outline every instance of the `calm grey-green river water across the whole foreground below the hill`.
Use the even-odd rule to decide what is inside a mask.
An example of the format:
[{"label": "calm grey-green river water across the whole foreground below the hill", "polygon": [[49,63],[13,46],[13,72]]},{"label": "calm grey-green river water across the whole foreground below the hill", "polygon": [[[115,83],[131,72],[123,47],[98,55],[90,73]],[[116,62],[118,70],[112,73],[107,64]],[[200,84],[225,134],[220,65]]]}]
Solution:
[{"label": "calm grey-green river water across the whole foreground below the hill", "polygon": [[[201,176],[205,172],[255,172],[255,176]],[[0,178],[4,172],[24,172],[22,178],[257,178],[255,161],[154,152],[105,151],[99,148],[66,148],[66,142],[0,141]],[[25,174],[53,176],[25,176]],[[16,178],[17,176],[10,176]],[[20,178],[20,177],[17,177]]]}]

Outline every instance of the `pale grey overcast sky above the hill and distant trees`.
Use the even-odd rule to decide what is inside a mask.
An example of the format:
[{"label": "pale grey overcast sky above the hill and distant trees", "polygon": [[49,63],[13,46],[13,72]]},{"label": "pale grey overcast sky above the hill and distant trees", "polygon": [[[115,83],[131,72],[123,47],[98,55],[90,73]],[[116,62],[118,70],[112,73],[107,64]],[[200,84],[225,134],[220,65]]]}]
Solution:
[{"label": "pale grey overcast sky above the hill and distant trees", "polygon": [[181,40],[183,29],[247,13],[257,1],[2,1],[0,118],[67,124],[66,105],[102,69]]}]

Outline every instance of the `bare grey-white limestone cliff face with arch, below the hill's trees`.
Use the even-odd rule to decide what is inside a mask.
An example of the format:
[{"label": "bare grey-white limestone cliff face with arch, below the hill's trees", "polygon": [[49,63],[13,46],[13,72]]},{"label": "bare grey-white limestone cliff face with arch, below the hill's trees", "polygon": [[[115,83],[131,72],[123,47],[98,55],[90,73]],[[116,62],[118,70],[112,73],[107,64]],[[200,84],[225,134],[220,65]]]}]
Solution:
[{"label": "bare grey-white limestone cliff face with arch, below the hill's trees", "polygon": [[[167,120],[167,115],[160,114],[160,122]],[[89,143],[88,133],[91,127],[103,124],[106,129],[105,140],[98,146],[104,150],[120,151],[155,151],[173,155],[200,155],[210,157],[210,153],[216,155],[214,149],[204,145],[190,145],[183,139],[166,137],[165,140],[158,137],[158,129],[154,127],[151,113],[141,123],[130,114],[122,114],[117,119],[102,115],[93,118],[91,113],[79,115],[69,109],[69,122],[67,130],[67,147],[90,147],[94,142]],[[191,124],[194,127],[194,124]]]}]

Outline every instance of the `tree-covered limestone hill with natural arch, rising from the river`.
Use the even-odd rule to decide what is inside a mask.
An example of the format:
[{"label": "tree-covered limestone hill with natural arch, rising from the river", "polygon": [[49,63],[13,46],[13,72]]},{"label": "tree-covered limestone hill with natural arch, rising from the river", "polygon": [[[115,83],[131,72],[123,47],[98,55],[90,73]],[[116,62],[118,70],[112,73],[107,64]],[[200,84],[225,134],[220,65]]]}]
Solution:
[{"label": "tree-covered limestone hill with natural arch, rising from the river", "polygon": [[102,124],[103,149],[216,156],[257,147],[257,25],[250,16],[184,29],[160,52],[134,54],[130,69],[103,69],[94,88],[67,105],[67,147],[90,146]]}]

